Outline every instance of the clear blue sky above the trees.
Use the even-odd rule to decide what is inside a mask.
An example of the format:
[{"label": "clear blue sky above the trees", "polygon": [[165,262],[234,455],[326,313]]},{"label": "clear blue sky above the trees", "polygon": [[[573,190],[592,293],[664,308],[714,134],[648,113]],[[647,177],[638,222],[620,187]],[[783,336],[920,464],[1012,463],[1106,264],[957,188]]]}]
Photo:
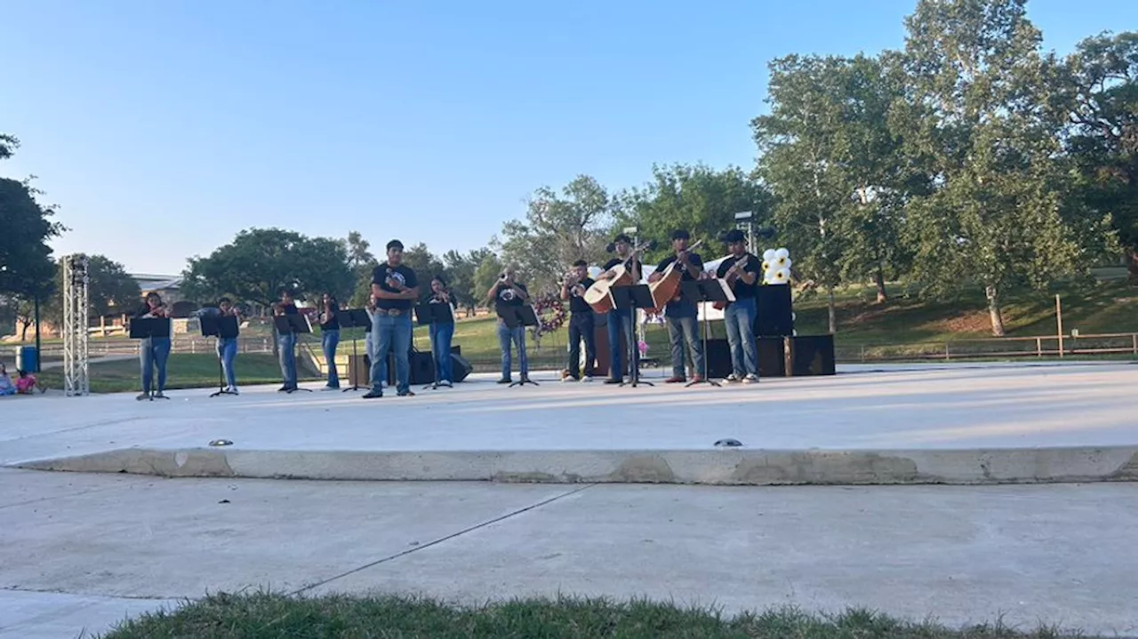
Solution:
[{"label": "clear blue sky above the trees", "polygon": [[[241,229],[484,246],[525,198],[751,167],[766,65],[899,48],[915,0],[0,0],[0,175],[57,252],[179,273]],[[1133,0],[1032,0],[1045,45]]]}]

